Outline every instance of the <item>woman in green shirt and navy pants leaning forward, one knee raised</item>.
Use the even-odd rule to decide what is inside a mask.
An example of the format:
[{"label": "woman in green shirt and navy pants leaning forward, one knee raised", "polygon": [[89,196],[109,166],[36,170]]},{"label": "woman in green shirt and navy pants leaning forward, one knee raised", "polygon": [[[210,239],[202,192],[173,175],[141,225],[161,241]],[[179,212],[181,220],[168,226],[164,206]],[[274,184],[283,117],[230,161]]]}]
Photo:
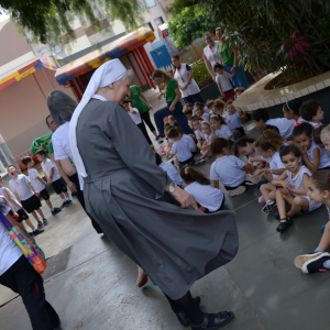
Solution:
[{"label": "woman in green shirt and navy pants leaning forward, one knee raised", "polygon": [[160,86],[163,86],[163,92],[158,95],[158,100],[165,96],[167,107],[157,110],[154,113],[155,123],[158,130],[158,136],[156,140],[165,138],[164,135],[164,121],[163,119],[172,114],[177,123],[182,127],[185,134],[194,134],[193,130],[188,125],[186,114],[183,112],[183,105],[180,102],[182,92],[178,87],[178,82],[167,72],[155,70],[153,73],[154,81]]}]

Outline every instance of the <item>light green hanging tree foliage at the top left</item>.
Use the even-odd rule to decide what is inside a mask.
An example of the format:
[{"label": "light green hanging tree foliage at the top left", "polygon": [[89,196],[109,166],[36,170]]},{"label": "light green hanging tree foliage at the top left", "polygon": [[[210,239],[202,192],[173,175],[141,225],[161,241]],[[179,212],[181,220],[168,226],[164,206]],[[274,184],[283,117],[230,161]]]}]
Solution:
[{"label": "light green hanging tree foliage at the top left", "polygon": [[145,10],[139,0],[0,0],[0,12],[6,11],[24,31],[44,44],[58,43],[61,37],[75,40],[74,21],[98,29],[109,14],[120,20],[127,30],[142,23]]}]

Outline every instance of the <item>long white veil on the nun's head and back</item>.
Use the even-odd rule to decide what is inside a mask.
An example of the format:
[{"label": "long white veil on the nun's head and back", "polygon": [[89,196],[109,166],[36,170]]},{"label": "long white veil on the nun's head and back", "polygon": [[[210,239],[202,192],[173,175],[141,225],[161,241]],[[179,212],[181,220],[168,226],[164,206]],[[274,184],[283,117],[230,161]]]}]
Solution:
[{"label": "long white veil on the nun's head and back", "polygon": [[70,120],[69,142],[74,156],[74,163],[77,167],[78,174],[80,174],[82,177],[87,177],[87,173],[80,153],[78,151],[76,132],[80,113],[99,88],[109,86],[110,84],[118,81],[125,75],[125,73],[127,68],[118,58],[102,64],[91,76],[87,89],[84,92],[84,97],[74,111]]}]

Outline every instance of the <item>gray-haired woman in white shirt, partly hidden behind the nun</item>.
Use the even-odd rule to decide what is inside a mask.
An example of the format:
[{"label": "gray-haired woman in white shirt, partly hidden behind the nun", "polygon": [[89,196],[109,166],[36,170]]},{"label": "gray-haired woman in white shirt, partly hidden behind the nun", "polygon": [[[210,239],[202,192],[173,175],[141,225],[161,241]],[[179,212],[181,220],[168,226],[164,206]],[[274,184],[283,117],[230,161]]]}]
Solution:
[{"label": "gray-haired woman in white shirt, partly hidden behind the nun", "polygon": [[[79,183],[77,169],[72,162],[73,154],[68,142],[69,120],[77,107],[77,102],[61,90],[53,90],[47,97],[47,107],[51,111],[51,116],[46,121],[48,123],[48,127],[54,129],[54,133],[52,135],[54,160],[56,164],[58,164],[58,170],[61,168],[67,180],[70,182],[70,190],[77,191],[77,198],[81,207],[86,211],[84,191],[81,186],[82,182]],[[97,233],[102,233],[103,231],[98,222],[96,222],[90,216],[89,218]]]}]

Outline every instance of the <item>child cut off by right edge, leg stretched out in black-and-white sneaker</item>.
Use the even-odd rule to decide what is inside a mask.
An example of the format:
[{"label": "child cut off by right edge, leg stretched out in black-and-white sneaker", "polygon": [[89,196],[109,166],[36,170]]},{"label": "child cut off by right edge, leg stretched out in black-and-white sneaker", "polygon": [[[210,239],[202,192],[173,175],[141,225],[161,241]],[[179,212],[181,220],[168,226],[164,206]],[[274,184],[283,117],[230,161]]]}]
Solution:
[{"label": "child cut off by right edge, leg stretched out in black-and-white sneaker", "polygon": [[[308,196],[314,205],[322,202],[328,210],[330,220],[330,170],[316,172],[308,182]],[[302,254],[295,258],[295,266],[304,274],[322,273],[330,270],[330,254],[326,252],[330,246],[330,221],[326,229],[318,248],[314,253]]]}]

